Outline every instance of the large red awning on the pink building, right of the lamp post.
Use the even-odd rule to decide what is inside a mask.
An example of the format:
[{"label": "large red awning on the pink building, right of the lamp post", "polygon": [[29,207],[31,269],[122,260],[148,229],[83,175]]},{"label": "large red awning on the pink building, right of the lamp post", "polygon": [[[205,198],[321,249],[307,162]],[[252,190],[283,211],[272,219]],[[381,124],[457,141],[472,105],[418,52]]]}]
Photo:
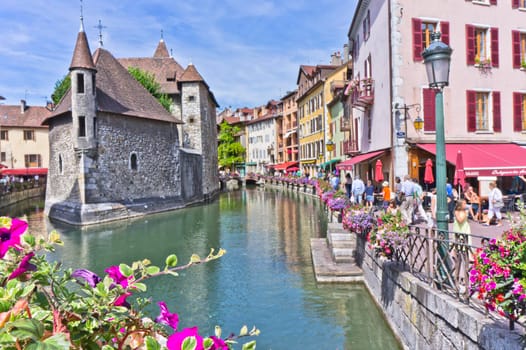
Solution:
[{"label": "large red awning on the pink building, right of the lamp post", "polygon": [[[417,146],[436,154],[434,143]],[[526,175],[526,148],[514,143],[448,143],[446,160],[455,165],[458,151],[462,152],[466,177]]]}]

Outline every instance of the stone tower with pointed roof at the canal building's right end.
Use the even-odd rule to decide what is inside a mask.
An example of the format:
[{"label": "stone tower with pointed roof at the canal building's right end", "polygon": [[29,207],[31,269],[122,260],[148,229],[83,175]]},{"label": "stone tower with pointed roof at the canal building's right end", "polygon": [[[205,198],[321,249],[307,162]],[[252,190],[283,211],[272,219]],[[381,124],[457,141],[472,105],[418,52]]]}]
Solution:
[{"label": "stone tower with pointed roof at the canal building's right end", "polygon": [[182,146],[203,157],[203,194],[213,196],[219,188],[217,127],[214,95],[193,64],[179,78],[181,90]]}]

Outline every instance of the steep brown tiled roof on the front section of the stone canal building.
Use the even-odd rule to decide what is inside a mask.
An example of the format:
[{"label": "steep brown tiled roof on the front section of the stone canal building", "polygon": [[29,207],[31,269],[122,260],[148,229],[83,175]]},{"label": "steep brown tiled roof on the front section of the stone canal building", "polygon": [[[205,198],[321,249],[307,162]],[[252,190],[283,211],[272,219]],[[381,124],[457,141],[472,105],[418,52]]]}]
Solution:
[{"label": "steep brown tiled roof on the front section of the stone canal building", "polygon": [[[102,48],[93,55],[97,69],[97,110],[182,124],[139,84],[112,54]],[[71,111],[71,90],[57,106],[55,117]]]}]

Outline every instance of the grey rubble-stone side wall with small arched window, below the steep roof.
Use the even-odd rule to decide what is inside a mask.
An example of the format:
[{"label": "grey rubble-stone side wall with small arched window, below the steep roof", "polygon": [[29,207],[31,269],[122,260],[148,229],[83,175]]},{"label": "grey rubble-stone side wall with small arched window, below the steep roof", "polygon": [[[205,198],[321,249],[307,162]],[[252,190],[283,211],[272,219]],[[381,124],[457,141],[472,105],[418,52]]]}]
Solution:
[{"label": "grey rubble-stone side wall with small arched window, below the steep roof", "polygon": [[85,162],[86,203],[180,196],[175,124],[99,114],[97,125],[97,153]]}]

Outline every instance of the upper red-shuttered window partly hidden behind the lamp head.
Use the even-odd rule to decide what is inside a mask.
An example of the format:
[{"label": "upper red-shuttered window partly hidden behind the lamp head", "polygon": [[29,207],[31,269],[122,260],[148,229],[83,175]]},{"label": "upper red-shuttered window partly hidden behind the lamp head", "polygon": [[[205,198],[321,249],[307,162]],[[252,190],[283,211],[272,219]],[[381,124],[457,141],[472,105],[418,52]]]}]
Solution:
[{"label": "upper red-shuttered window partly hidden behind the lamp head", "polygon": [[449,22],[412,19],[413,26],[413,61],[422,61],[422,51],[431,44],[431,34],[440,32],[440,39],[449,45]]}]

